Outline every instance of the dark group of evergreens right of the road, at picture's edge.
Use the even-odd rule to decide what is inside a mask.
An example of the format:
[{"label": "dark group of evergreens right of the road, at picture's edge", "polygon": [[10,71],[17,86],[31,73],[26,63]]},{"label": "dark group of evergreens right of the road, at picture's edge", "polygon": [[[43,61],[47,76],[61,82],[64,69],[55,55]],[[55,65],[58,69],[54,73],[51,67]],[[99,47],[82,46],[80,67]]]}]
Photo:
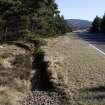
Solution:
[{"label": "dark group of evergreens right of the road, at picture's edge", "polygon": [[105,33],[105,14],[102,18],[95,17],[90,31],[93,33]]}]

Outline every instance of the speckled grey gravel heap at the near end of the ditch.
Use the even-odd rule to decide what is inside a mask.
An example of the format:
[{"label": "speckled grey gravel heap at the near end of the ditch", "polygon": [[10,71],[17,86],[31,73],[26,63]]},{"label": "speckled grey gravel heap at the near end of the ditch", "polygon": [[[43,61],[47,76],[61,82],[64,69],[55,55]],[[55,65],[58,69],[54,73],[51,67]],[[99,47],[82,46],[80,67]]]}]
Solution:
[{"label": "speckled grey gravel heap at the near end of the ditch", "polygon": [[33,91],[24,97],[22,105],[59,105],[59,101],[55,95],[49,95],[44,91]]}]

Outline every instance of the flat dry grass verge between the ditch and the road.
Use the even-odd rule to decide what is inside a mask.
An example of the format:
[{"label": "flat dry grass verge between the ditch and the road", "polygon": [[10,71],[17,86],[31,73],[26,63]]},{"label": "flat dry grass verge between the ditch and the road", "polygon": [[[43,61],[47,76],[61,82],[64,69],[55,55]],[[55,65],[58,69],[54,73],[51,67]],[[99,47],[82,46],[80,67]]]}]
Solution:
[{"label": "flat dry grass verge between the ditch and the road", "polygon": [[[71,105],[105,105],[105,57],[75,34],[48,39],[43,47],[53,77],[64,81]],[[62,78],[63,77],[63,78]]]}]

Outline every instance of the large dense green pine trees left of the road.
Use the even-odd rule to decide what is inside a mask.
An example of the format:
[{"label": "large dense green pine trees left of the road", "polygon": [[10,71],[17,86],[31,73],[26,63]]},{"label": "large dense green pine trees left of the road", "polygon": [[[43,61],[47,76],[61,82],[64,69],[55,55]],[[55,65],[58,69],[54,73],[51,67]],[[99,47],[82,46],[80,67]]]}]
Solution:
[{"label": "large dense green pine trees left of the road", "polygon": [[55,0],[0,0],[0,35],[53,35],[71,31]]}]

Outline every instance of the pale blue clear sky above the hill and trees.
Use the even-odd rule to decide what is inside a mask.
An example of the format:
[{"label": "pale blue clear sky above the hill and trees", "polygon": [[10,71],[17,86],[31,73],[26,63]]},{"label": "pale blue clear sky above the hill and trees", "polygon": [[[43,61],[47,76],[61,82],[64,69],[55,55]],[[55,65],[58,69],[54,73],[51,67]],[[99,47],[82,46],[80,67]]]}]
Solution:
[{"label": "pale blue clear sky above the hill and trees", "polygon": [[56,0],[61,14],[66,19],[93,20],[96,15],[103,16],[105,0]]}]

